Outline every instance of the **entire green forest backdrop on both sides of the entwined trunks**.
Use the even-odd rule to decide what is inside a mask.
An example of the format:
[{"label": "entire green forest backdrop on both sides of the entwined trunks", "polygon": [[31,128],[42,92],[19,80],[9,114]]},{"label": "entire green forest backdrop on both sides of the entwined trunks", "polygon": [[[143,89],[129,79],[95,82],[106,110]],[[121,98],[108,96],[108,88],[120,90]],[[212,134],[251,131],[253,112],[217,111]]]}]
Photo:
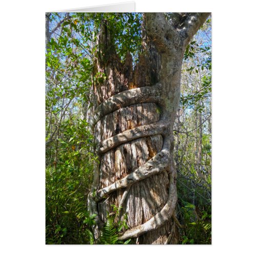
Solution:
[{"label": "entire green forest backdrop on both sides of the entwined trunks", "polygon": [[[87,110],[100,21],[108,19],[117,53],[134,63],[141,52],[139,13],[48,13],[46,47],[46,244],[95,244],[87,197],[93,180],[93,136]],[[168,17],[166,17],[168,18]],[[211,243],[211,22],[190,42],[181,81],[175,126],[178,170],[176,215],[181,244]],[[160,110],[159,110],[160,112]],[[201,118],[201,119],[200,119]],[[201,130],[200,130],[201,129]],[[201,153],[199,149],[201,148]],[[200,156],[199,156],[200,155]],[[113,206],[99,244],[118,241],[127,228]]]}]

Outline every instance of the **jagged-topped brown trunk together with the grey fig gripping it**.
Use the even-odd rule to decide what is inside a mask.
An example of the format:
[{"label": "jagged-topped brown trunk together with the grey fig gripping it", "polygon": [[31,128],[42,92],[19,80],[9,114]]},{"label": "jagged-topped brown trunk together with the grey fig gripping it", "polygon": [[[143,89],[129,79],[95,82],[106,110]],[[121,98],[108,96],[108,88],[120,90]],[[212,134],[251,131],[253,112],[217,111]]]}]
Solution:
[{"label": "jagged-topped brown trunk together with the grey fig gripping it", "polygon": [[129,226],[120,240],[177,243],[173,126],[181,66],[189,40],[208,15],[173,13],[167,21],[163,13],[144,14],[144,50],[135,69],[129,53],[121,62],[108,22],[102,23],[88,118],[99,160],[88,198],[96,238],[115,205],[117,218],[127,218]]}]

